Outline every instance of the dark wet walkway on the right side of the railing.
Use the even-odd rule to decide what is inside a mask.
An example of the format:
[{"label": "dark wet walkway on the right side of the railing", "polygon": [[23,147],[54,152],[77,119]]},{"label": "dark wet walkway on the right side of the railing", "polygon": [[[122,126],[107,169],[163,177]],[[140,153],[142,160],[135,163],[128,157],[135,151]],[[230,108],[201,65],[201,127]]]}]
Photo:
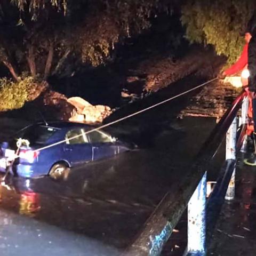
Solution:
[{"label": "dark wet walkway on the right side of the railing", "polygon": [[239,160],[235,200],[222,207],[209,255],[256,255],[256,169]]}]

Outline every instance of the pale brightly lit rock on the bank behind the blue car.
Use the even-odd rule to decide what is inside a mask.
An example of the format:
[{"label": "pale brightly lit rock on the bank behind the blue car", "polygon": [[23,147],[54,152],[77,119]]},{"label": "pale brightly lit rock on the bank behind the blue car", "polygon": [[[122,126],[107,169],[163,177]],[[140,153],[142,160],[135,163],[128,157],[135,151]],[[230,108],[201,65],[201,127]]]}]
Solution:
[{"label": "pale brightly lit rock on the bank behind the blue car", "polygon": [[80,97],[69,98],[67,102],[73,105],[77,111],[75,115],[69,118],[69,121],[89,124],[102,123],[103,119],[112,113],[110,107],[103,105],[93,106]]}]

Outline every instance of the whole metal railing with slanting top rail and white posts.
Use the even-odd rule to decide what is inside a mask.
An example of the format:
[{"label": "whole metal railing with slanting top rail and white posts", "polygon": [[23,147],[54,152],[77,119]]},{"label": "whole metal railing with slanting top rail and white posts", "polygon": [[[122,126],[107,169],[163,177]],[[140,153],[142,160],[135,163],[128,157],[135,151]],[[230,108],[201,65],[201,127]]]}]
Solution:
[{"label": "whole metal railing with slanting top rail and white posts", "polygon": [[[237,140],[237,114],[241,106],[242,117],[239,118],[241,129]],[[235,195],[236,151],[241,148],[244,150],[246,147],[247,109],[248,100],[246,93],[243,92],[204,143],[191,166],[190,174],[174,190],[175,193],[167,193],[164,196],[125,255],[159,255],[186,207],[188,207],[188,246],[184,255],[206,255],[206,247],[210,242],[225,196],[230,200]],[[226,134],[226,162],[206,202],[206,172]]]}]

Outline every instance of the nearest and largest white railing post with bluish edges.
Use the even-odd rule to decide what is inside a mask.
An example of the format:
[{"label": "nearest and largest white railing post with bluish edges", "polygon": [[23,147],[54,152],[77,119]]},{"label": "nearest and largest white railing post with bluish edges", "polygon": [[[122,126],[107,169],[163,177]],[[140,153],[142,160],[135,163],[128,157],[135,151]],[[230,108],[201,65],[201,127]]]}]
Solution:
[{"label": "nearest and largest white railing post with bluish edges", "polygon": [[188,203],[188,253],[205,255],[206,242],[206,172]]}]

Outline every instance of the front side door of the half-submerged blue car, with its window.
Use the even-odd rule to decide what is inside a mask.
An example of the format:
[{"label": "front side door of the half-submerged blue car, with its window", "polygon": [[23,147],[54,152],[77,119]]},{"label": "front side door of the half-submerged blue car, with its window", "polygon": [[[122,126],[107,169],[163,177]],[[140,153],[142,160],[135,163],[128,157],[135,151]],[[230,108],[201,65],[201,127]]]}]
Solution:
[{"label": "front side door of the half-submerged blue car, with its window", "polygon": [[92,145],[93,161],[118,154],[118,146],[108,133],[93,131],[87,134]]}]

